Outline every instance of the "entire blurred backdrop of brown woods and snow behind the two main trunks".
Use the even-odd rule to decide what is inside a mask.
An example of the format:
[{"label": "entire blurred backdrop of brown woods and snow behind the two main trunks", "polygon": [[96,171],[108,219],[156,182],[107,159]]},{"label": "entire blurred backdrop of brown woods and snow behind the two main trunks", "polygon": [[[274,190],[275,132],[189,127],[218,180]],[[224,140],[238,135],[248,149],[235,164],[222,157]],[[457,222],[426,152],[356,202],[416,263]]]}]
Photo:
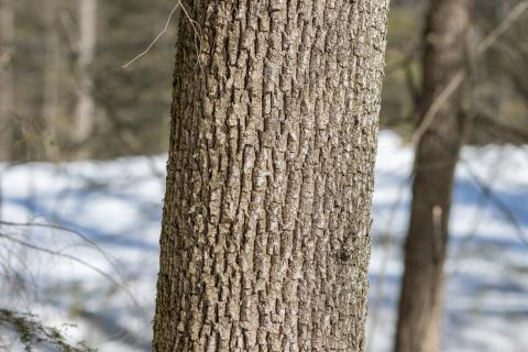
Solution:
[{"label": "entire blurred backdrop of brown woods and snow behind the two main trunks", "polygon": [[[457,174],[448,272],[461,276],[448,285],[449,351],[528,349],[519,332],[528,327],[528,11],[475,54],[519,2],[472,9],[463,100],[472,128],[462,155],[473,164]],[[153,43],[174,6],[0,0],[0,331],[13,311],[30,311],[51,326],[75,322],[73,339],[103,351],[150,350],[178,11],[150,51],[123,66]],[[391,1],[373,215],[374,351],[388,351],[394,333],[427,8]],[[453,262],[460,257],[471,260]],[[503,295],[507,307],[495,309]],[[31,316],[20,319],[54,336]]]}]

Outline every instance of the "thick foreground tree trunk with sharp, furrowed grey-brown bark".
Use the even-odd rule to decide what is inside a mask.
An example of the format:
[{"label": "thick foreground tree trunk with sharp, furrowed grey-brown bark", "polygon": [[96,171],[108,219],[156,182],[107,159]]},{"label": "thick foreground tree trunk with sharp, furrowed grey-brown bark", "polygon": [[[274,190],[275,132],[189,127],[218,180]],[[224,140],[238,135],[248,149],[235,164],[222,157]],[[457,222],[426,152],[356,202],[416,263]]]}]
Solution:
[{"label": "thick foreground tree trunk with sharp, furrowed grey-brown bark", "polygon": [[387,1],[184,7],[154,350],[362,351]]}]

